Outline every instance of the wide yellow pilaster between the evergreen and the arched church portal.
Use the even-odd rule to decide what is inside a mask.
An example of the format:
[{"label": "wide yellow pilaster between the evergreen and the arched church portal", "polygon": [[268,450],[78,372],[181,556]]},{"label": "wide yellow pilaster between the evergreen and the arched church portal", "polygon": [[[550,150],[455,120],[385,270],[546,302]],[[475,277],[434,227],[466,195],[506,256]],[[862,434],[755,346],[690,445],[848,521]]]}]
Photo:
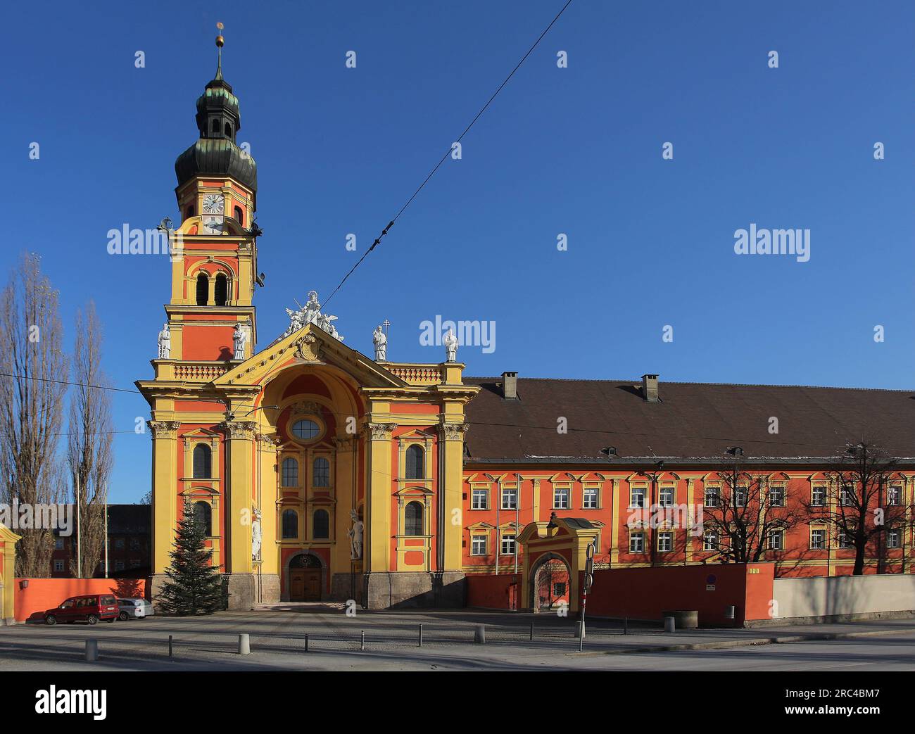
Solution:
[{"label": "wide yellow pilaster between the evergreen and the arched church portal", "polygon": [[251,545],[253,520],[253,421],[226,421],[225,527],[229,609],[250,610],[254,603]]}]

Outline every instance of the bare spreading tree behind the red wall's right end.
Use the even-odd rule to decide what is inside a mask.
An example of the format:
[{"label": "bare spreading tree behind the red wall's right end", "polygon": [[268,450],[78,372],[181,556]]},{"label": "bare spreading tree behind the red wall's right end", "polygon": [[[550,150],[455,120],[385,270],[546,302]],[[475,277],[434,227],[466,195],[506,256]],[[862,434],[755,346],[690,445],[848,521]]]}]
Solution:
[{"label": "bare spreading tree behind the red wall's right end", "polygon": [[[745,468],[735,453],[716,471],[720,491],[707,498],[703,513],[705,543],[722,563],[758,563],[767,552],[778,557],[782,547],[770,543],[772,534],[784,537],[800,517],[788,500],[787,486],[772,483],[764,473]],[[707,491],[707,490],[706,490]]]}]

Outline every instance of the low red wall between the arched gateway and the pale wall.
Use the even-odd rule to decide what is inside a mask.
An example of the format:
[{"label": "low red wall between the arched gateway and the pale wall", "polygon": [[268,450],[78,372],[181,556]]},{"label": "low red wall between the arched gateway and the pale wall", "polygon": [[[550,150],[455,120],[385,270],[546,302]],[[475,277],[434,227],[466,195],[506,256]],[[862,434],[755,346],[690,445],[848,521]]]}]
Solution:
[{"label": "low red wall between the arched gateway and the pale wall", "polygon": [[[595,571],[587,614],[661,621],[662,611],[698,610],[700,625],[768,619],[774,567],[754,563]],[[733,621],[725,617],[729,605],[737,608]]]}]

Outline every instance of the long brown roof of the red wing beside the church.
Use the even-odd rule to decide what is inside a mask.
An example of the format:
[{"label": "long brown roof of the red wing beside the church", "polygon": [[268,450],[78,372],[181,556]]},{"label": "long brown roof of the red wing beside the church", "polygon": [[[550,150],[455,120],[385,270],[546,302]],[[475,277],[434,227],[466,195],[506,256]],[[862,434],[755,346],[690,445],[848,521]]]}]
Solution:
[{"label": "long brown roof of the red wing beside the church", "polygon": [[[468,464],[720,460],[739,446],[750,458],[806,463],[867,440],[897,458],[915,457],[915,391],[798,385],[659,383],[660,403],[642,399],[641,380],[518,379],[518,400],[500,377],[468,405]],[[564,416],[568,432],[556,430]],[[779,432],[770,434],[770,416]],[[814,462],[812,462],[814,463]]]}]

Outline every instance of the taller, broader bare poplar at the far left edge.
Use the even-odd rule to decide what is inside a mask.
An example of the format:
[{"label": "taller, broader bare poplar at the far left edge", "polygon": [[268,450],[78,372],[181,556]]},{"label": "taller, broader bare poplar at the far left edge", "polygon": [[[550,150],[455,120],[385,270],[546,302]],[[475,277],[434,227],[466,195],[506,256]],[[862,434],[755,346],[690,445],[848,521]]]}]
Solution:
[{"label": "taller, broader bare poplar at the far left edge", "polygon": [[[67,358],[58,292],[36,254],[24,254],[0,294],[0,488],[7,502],[32,505],[64,496],[57,450]],[[20,528],[16,576],[48,577],[53,529]]]}]

